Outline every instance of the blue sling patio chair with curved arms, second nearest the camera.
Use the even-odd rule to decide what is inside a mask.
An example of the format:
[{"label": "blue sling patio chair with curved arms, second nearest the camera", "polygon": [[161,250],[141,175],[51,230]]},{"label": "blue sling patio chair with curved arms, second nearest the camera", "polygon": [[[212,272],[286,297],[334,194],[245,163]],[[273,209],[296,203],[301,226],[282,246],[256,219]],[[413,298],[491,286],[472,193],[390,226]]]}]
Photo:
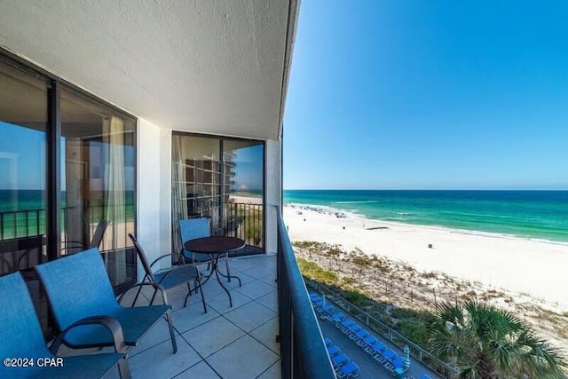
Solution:
[{"label": "blue sling patio chair with curved arms, second nearest the camera", "polygon": [[[36,265],[36,272],[51,304],[51,312],[59,330],[76,321],[93,316],[110,316],[122,327],[124,343],[136,346],[140,338],[165,316],[170,329],[171,345],[177,352],[176,337],[171,326],[171,306],[151,305],[123,307],[114,297],[105,264],[98,249],[88,249],[55,261]],[[165,290],[159,284],[146,282],[160,291],[167,304]],[[73,348],[100,347],[113,344],[111,336],[99,326],[81,326],[70,330],[64,343]]]}]

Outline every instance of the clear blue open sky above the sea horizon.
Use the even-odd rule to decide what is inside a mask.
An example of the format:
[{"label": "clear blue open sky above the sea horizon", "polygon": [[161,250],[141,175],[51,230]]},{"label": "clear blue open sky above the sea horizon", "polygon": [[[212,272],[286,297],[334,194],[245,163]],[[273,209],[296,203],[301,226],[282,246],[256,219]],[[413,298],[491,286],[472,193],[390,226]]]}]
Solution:
[{"label": "clear blue open sky above the sea horizon", "polygon": [[568,189],[568,2],[302,2],[284,187]]}]

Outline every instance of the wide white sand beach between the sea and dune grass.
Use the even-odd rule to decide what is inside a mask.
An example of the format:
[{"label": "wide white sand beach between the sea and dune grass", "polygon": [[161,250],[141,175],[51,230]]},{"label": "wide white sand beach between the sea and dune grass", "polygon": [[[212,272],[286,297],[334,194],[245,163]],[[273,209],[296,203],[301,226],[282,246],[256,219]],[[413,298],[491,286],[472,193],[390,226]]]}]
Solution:
[{"label": "wide white sand beach between the sea and dune grass", "polygon": [[568,244],[349,215],[340,218],[293,204],[284,208],[284,220],[291,241],[357,248],[369,255],[405,262],[417,270],[480,281],[568,310]]}]

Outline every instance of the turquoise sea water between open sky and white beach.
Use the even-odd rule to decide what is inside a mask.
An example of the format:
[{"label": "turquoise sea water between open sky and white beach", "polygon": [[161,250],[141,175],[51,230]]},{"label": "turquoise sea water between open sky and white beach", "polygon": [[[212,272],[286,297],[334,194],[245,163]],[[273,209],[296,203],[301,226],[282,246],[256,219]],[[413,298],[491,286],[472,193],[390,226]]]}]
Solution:
[{"label": "turquoise sea water between open sky and white beach", "polygon": [[286,190],[284,201],[385,221],[568,241],[568,191]]}]

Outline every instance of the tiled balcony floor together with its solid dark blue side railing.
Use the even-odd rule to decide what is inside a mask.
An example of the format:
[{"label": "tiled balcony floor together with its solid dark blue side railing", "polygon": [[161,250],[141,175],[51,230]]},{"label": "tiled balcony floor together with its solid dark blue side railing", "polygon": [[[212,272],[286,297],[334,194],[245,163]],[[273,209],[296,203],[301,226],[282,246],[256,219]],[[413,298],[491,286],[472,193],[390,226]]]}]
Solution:
[{"label": "tiled balcony floor together with its solid dark blue side railing", "polygon": [[[279,232],[277,255],[231,259],[231,273],[242,282],[242,287],[234,279],[224,282],[232,308],[214,278],[203,287],[207,313],[200,296],[191,296],[184,307],[185,288],[170,290],[177,354],[172,353],[167,324],[161,320],[130,350],[132,377],[335,377],[281,217]],[[131,304],[133,296],[127,294],[122,303]],[[137,305],[148,304],[150,297],[139,297]],[[107,377],[118,378],[118,371]]]}]

